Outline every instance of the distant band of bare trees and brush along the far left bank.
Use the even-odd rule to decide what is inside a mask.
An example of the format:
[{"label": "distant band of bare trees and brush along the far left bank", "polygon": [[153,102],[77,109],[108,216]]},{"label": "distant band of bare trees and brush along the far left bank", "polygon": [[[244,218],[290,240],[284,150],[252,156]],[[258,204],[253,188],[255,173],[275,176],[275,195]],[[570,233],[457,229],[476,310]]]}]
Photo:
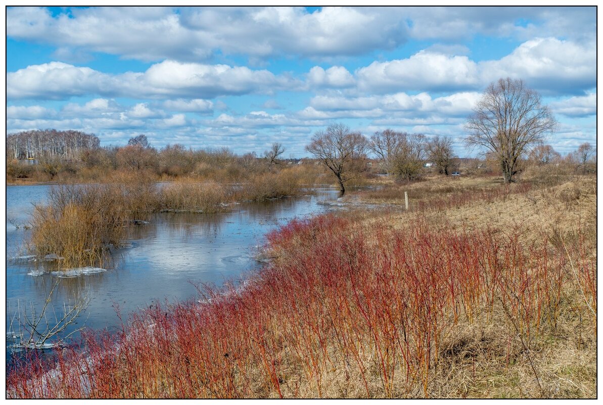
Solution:
[{"label": "distant band of bare trees and brush along the far left bank", "polygon": [[[276,142],[262,155],[237,155],[229,148],[193,149],[180,144],[154,148],[142,134],[130,138],[124,146],[101,147],[92,134],[32,130],[7,136],[7,180],[88,182],[109,178],[116,172],[145,172],[165,180],[185,176],[241,181],[308,160],[281,159],[284,151]],[[26,164],[26,159],[31,161]],[[320,168],[310,171],[314,176]]]}]

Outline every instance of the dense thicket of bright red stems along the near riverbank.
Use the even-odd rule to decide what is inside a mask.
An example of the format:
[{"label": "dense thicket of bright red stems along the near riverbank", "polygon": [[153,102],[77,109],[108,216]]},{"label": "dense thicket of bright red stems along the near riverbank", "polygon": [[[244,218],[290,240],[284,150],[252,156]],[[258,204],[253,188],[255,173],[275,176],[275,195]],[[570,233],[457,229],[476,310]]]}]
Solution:
[{"label": "dense thicket of bright red stems along the near riverbank", "polygon": [[201,304],[155,305],[52,364],[16,365],[7,395],[325,397],[336,370],[362,396],[427,396],[460,322],[500,322],[504,308],[523,337],[545,333],[576,280],[596,317],[596,264],[578,254],[574,276],[545,235],[523,246],[519,230],[367,232],[331,216],[291,222],[268,235],[277,259],[244,287],[203,288]]}]

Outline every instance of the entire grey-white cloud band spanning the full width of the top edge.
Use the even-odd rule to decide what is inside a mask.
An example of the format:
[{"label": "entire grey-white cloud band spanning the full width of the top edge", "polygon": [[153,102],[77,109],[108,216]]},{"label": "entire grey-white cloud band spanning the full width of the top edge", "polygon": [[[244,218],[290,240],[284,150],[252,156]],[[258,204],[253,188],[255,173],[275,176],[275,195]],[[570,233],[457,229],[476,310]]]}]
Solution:
[{"label": "entire grey-white cloud band spanning the full width of the top edge", "polygon": [[67,61],[90,52],[146,62],[207,61],[218,51],[330,58],[394,49],[410,38],[592,40],[595,32],[595,7],[94,7],[55,16],[42,7],[7,9],[9,37],[59,46],[56,56]]}]

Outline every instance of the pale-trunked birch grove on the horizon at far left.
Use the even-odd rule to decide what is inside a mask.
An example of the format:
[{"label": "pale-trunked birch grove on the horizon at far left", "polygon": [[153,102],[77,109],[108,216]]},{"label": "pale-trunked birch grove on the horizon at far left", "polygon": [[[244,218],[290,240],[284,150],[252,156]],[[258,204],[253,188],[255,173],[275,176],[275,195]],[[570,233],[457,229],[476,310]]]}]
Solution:
[{"label": "pale-trunked birch grove on the horizon at far left", "polygon": [[78,159],[84,150],[98,148],[94,134],[75,130],[36,129],[8,135],[7,159]]}]

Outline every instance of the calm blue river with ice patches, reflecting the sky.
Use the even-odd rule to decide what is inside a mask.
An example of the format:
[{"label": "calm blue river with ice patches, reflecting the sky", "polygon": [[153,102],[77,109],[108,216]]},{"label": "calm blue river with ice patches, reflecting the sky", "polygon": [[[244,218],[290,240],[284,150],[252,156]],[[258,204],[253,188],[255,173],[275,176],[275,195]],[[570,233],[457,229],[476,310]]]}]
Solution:
[{"label": "calm blue river with ice patches, reflecting the sky", "polygon": [[[28,222],[34,203],[46,200],[48,185],[7,187],[7,220]],[[115,307],[124,319],[155,300],[185,301],[196,296],[194,284],[221,285],[245,277],[261,264],[254,260],[264,235],[293,218],[320,214],[338,191],[318,188],[314,194],[267,202],[242,202],[223,214],[161,213],[148,218],[148,225],[132,226],[131,247],[120,249],[114,268],[106,272],[61,278],[52,295],[58,311],[63,303],[87,295],[90,304],[71,333],[85,321],[86,327],[112,331],[119,324]],[[6,305],[7,331],[17,304],[41,308],[56,278],[49,273],[31,275],[32,263],[17,263],[24,240],[31,232],[7,222]],[[10,310],[9,310],[10,308]],[[54,319],[54,315],[52,316]],[[13,328],[17,322],[13,320]],[[77,338],[77,334],[74,334]],[[8,338],[8,334],[7,334]],[[7,344],[11,343],[7,339]]]}]

